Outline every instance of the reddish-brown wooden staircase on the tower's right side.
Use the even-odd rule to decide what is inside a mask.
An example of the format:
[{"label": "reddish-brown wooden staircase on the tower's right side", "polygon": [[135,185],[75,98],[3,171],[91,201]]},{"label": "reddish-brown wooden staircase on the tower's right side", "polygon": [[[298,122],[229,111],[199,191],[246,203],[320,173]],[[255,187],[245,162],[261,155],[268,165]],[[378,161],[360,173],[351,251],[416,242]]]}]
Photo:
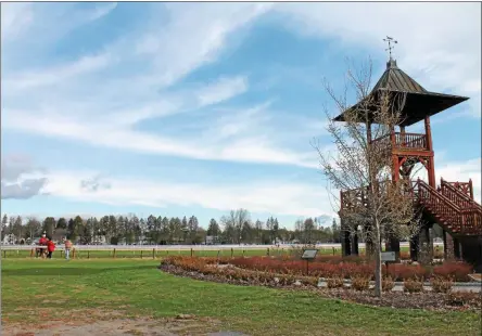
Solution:
[{"label": "reddish-brown wooden staircase on the tower's right side", "polygon": [[482,235],[482,207],[454,183],[441,180],[435,190],[422,180],[413,181],[414,199],[453,236]]}]

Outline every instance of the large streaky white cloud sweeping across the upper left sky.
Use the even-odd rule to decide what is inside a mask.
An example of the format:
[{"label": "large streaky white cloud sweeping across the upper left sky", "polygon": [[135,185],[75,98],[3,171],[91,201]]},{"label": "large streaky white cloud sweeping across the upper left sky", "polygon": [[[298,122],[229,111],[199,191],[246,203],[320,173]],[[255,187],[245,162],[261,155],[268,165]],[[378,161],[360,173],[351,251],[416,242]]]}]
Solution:
[{"label": "large streaky white cloud sweeping across the upper left sky", "polygon": [[[155,17],[148,24],[149,29],[135,31],[96,55],[47,69],[10,72],[2,78],[5,88],[2,129],[141,153],[313,166],[305,159],[309,155],[277,146],[275,132],[270,139],[257,134],[263,125],[251,122],[253,118],[244,120],[243,116],[250,117],[244,113],[234,114],[236,120],[221,117],[215,122],[218,128],[190,137],[170,138],[161,131],[154,134],[136,128],[151,118],[191,112],[245,92],[248,78],[221,74],[216,81],[196,83],[191,90],[165,89],[216,60],[228,42],[228,35],[246,27],[270,7],[169,4],[167,25]],[[132,44],[138,40],[136,52]],[[22,41],[17,43],[21,46]],[[135,64],[140,72],[131,72],[127,66],[123,75],[100,73],[113,61],[117,62],[116,67]],[[28,100],[24,99],[26,95]],[[256,120],[266,118],[258,114]]]}]

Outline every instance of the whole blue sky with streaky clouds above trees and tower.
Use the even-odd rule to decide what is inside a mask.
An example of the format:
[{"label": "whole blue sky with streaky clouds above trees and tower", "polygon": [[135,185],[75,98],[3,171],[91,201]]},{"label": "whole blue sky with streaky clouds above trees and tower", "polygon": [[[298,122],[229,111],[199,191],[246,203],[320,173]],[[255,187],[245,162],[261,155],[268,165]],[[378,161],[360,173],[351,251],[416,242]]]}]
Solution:
[{"label": "whole blue sky with streaky clouds above trees and tower", "polygon": [[324,79],[340,92],[347,57],[378,79],[386,35],[422,87],[470,98],[432,137],[436,178],[480,201],[480,3],[23,2],[1,4],[2,212],[329,223]]}]

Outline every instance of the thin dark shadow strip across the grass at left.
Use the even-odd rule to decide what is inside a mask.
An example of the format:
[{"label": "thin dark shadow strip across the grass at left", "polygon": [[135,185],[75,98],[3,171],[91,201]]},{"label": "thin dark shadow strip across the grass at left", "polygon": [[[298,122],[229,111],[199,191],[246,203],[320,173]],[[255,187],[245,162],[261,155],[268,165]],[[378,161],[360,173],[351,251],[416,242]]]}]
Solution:
[{"label": "thin dark shadow strip across the grass at left", "polygon": [[20,270],[2,270],[2,276],[45,276],[45,275],[90,275],[105,272],[117,271],[141,271],[157,270],[157,266],[136,266],[136,267],[114,267],[114,268],[83,268],[83,267],[63,267],[63,268],[30,268]]}]

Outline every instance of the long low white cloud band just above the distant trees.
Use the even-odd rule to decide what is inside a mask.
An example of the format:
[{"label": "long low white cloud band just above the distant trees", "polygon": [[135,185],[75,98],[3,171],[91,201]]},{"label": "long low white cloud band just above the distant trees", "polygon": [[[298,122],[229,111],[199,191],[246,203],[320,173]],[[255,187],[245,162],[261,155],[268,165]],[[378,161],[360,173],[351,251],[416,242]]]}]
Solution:
[{"label": "long low white cloud band just above the distant trees", "polygon": [[[92,176],[96,176],[97,183],[109,188],[99,188],[94,192],[83,188],[83,181],[92,180]],[[278,216],[332,215],[331,208],[324,208],[328,202],[325,191],[309,184],[282,181],[251,181],[234,185],[182,184],[131,177],[103,178],[100,181],[90,171],[52,171],[47,178],[49,182],[45,192],[78,202],[115,206],[201,206],[217,210],[243,207],[253,212]]]}]

